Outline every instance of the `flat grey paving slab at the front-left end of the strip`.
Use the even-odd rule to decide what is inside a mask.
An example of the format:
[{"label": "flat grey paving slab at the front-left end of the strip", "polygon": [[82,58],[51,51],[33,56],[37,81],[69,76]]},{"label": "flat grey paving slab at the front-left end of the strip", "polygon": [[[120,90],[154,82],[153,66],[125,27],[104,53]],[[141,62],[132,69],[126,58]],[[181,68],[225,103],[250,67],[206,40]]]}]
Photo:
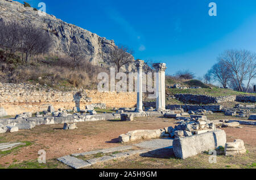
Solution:
[{"label": "flat grey paving slab at the front-left end of the strip", "polygon": [[89,162],[86,162],[84,160],[80,160],[76,157],[72,156],[63,156],[60,158],[57,158],[58,161],[63,162],[65,165],[71,166],[72,168],[75,169],[80,169],[80,168],[85,168],[87,166],[90,166]]}]

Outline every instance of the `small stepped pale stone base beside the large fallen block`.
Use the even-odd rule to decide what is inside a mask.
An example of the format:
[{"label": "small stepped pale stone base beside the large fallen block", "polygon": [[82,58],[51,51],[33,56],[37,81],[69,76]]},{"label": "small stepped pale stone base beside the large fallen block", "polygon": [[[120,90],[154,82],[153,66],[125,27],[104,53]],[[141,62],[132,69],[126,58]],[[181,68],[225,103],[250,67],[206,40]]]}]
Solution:
[{"label": "small stepped pale stone base beside the large fallen block", "polygon": [[246,153],[246,149],[241,139],[236,139],[232,143],[225,144],[225,156],[241,155],[244,153]]}]

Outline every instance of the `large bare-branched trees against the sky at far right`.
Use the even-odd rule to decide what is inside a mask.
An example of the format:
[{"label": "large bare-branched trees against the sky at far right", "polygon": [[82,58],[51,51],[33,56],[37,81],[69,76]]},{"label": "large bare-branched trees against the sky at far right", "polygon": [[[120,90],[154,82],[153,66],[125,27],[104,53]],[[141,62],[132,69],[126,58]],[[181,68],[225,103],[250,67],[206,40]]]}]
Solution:
[{"label": "large bare-branched trees against the sky at far right", "polygon": [[205,83],[219,82],[223,88],[248,92],[256,78],[256,53],[249,50],[226,50],[204,75]]}]

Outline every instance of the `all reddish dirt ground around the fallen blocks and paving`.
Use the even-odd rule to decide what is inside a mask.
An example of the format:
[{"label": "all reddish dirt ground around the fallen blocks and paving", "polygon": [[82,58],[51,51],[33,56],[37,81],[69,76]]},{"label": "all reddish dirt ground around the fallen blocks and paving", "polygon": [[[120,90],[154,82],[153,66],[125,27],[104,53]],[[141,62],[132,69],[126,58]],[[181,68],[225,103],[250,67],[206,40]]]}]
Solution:
[{"label": "all reddish dirt ground around the fallen blocks and paving", "polygon": [[[71,155],[72,153],[116,147],[120,145],[118,143],[118,136],[120,134],[138,129],[150,130],[168,126],[174,127],[176,122],[177,121],[175,119],[140,117],[135,118],[135,121],[133,122],[118,120],[80,122],[77,123],[78,129],[76,130],[62,130],[63,124],[60,124],[41,125],[36,126],[31,130],[19,130],[18,132],[0,134],[0,143],[31,143],[27,146],[13,149],[8,153],[0,152],[0,168],[68,168],[64,164],[58,162],[56,158]],[[249,153],[250,161],[248,163],[254,163],[256,162],[256,126],[241,126],[243,128],[223,129],[226,132],[228,142],[233,142],[234,139],[242,139],[245,142],[246,149],[249,149],[249,152],[252,152],[251,154]],[[46,159],[48,162],[48,164],[42,166],[35,165],[36,160],[39,157],[38,151],[40,149],[44,149],[46,151]],[[170,159],[171,158],[168,158],[168,160]],[[147,160],[147,158],[142,159],[142,157],[136,157],[134,160],[133,158],[129,158],[129,160],[125,161],[130,162],[129,168],[175,168],[168,165],[170,164],[169,162],[161,162],[166,164],[164,166],[151,166],[150,164],[154,164],[159,160],[151,160],[151,158],[149,160],[150,163],[147,162],[146,166],[138,165],[139,162],[143,162],[145,160]],[[92,168],[122,168],[121,164],[123,163],[122,160],[120,161],[120,163],[118,160],[118,162],[114,162],[114,164],[95,165],[92,166]],[[166,159],[163,161],[166,161]],[[129,162],[127,162],[127,164],[129,164]],[[181,165],[180,168],[184,168],[184,166]]]}]

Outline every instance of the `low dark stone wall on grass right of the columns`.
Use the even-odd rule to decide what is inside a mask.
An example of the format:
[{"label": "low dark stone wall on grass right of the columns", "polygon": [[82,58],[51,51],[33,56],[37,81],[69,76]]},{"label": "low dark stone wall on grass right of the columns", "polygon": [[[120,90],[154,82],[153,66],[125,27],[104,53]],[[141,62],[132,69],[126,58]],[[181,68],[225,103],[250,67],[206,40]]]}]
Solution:
[{"label": "low dark stone wall on grass right of the columns", "polygon": [[233,102],[236,100],[236,96],[206,96],[206,95],[191,95],[191,94],[176,94],[174,95],[177,100],[184,103],[193,104],[216,104],[220,102]]}]

